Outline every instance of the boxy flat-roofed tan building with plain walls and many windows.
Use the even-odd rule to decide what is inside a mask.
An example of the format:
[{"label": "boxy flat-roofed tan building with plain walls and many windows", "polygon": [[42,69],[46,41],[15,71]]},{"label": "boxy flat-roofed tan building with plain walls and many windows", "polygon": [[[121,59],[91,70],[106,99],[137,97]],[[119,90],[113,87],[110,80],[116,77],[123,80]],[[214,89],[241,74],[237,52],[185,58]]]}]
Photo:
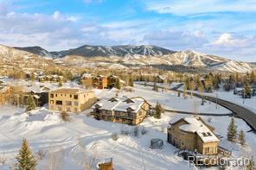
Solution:
[{"label": "boxy flat-roofed tan building with plain walls and many windows", "polygon": [[49,92],[48,108],[55,111],[78,113],[86,110],[86,103],[94,98],[93,91],[78,88],[61,88]]}]

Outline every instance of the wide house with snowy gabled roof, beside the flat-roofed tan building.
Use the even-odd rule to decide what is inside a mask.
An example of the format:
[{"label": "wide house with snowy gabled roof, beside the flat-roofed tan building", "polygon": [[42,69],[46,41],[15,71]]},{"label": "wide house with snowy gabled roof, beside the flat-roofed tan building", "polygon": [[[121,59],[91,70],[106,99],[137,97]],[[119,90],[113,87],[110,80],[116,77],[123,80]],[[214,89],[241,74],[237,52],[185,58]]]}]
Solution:
[{"label": "wide house with snowy gabled roof, beside the flat-roofed tan building", "polygon": [[144,98],[109,98],[93,105],[96,119],[115,123],[138,124],[150,113],[150,104]]}]

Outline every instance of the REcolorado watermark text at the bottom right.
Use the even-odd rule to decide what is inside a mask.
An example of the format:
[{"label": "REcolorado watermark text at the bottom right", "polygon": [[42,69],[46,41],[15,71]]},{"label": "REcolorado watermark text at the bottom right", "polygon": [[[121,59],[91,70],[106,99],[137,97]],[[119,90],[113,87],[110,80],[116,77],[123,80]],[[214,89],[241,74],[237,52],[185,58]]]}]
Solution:
[{"label": "REcolorado watermark text at the bottom right", "polygon": [[223,167],[247,167],[251,163],[249,158],[228,158],[218,156],[213,158],[195,158],[195,156],[188,156],[189,166],[223,166]]}]

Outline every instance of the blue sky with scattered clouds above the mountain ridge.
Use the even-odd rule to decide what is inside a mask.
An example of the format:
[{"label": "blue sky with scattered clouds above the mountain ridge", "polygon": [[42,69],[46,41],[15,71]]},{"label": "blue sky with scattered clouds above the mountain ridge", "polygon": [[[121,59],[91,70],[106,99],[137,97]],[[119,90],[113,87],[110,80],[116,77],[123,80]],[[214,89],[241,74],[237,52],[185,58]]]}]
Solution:
[{"label": "blue sky with scattered clouds above the mountain ridge", "polygon": [[0,43],[150,44],[256,61],[255,0],[0,0]]}]

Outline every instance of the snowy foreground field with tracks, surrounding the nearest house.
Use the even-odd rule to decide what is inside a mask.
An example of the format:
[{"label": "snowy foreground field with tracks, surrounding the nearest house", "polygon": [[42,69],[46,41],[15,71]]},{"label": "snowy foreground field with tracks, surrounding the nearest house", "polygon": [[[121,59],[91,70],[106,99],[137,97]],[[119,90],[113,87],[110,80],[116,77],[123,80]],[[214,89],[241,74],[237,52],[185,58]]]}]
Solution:
[{"label": "snowy foreground field with tracks, surrounding the nearest house", "polygon": [[[145,135],[120,135],[121,130],[131,131],[134,126],[119,123],[97,121],[86,116],[89,110],[80,115],[72,115],[71,122],[65,123],[57,113],[45,108],[32,111],[32,116],[14,106],[0,108],[0,154],[7,158],[7,165],[0,169],[9,169],[15,160],[14,156],[20,148],[22,138],[29,140],[29,145],[36,153],[42,149],[47,151],[46,157],[39,161],[38,169],[48,169],[53,161],[60,162],[60,169],[82,170],[82,162],[97,159],[113,158],[115,169],[125,170],[158,170],[158,169],[195,169],[189,167],[186,161],[177,157],[177,148],[166,142],[166,127],[170,120],[176,120],[186,115],[166,113],[162,119],[148,117],[140,127],[144,126]],[[206,121],[209,116],[202,116]],[[250,128],[240,119],[235,119],[238,129],[245,131]],[[216,133],[222,135],[221,146],[233,151],[234,156],[251,155],[256,149],[256,136],[246,132],[248,146],[241,148],[239,144],[227,142],[228,116],[214,116],[210,124],[216,128]],[[118,134],[118,140],[112,139],[112,134]],[[164,148],[152,150],[150,139],[161,138]],[[252,147],[252,148],[251,148]],[[253,153],[255,156],[256,154]],[[254,156],[254,157],[255,157]],[[57,168],[56,168],[57,169]]]}]

